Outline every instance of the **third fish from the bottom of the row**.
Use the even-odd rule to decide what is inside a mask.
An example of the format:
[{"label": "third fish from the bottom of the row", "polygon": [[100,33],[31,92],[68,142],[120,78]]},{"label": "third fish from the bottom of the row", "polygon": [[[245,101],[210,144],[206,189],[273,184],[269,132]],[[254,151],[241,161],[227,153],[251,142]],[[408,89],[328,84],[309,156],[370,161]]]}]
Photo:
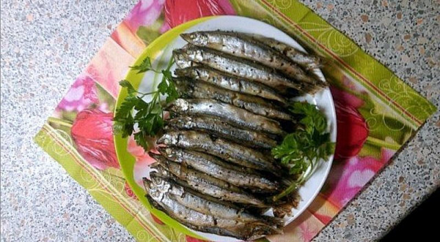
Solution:
[{"label": "third fish from the bottom of the row", "polygon": [[225,201],[259,208],[268,207],[263,200],[254,197],[254,195],[250,195],[248,192],[226,181],[210,177],[192,168],[181,166],[179,163],[171,162],[162,155],[155,153],[151,153],[150,155],[153,159],[158,161],[158,163],[151,166],[151,168],[157,170],[157,174],[162,177],[173,178],[179,184],[185,184],[203,194]]}]

